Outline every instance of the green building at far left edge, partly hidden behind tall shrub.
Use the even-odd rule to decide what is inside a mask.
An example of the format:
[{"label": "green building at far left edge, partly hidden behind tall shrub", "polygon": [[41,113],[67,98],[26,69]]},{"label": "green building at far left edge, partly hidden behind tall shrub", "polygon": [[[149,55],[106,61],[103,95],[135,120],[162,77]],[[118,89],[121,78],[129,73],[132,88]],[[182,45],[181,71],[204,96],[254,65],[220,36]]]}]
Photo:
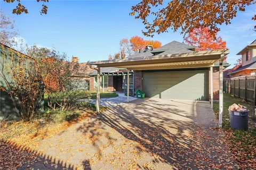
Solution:
[{"label": "green building at far left edge, partly hidden behind tall shrub", "polygon": [[[25,57],[28,62],[34,62],[34,58],[28,55],[25,55],[23,53],[20,53],[17,50],[0,43],[0,69],[1,70],[3,68],[2,64],[5,64],[4,66],[6,66],[6,62],[9,62],[9,63],[11,62],[11,56],[13,56],[13,58],[22,56],[22,57]],[[8,76],[9,74],[6,73],[6,71],[4,70],[3,70],[3,73],[5,73],[4,74],[5,76],[7,75],[6,78],[9,82],[9,80],[11,80],[10,77]],[[6,86],[7,85],[4,79],[0,76],[0,87],[6,88]],[[11,96],[7,94],[6,91],[2,91],[0,89],[0,121],[3,119],[13,120],[17,118],[18,118],[18,115],[17,115],[17,112],[15,111],[15,107],[14,107]]]}]

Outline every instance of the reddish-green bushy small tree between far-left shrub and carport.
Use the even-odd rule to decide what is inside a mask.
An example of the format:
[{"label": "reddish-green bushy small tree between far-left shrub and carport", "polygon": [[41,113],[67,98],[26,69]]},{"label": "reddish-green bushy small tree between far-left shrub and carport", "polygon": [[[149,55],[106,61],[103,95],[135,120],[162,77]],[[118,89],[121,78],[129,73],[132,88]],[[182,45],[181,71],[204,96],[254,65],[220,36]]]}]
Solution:
[{"label": "reddish-green bushy small tree between far-left shrub and carport", "polygon": [[[48,106],[61,110],[72,109],[77,106],[77,86],[79,63],[67,61],[65,53],[60,54],[54,49],[27,48],[27,53],[37,58],[37,65],[43,78]],[[85,70],[80,72],[85,72]]]}]

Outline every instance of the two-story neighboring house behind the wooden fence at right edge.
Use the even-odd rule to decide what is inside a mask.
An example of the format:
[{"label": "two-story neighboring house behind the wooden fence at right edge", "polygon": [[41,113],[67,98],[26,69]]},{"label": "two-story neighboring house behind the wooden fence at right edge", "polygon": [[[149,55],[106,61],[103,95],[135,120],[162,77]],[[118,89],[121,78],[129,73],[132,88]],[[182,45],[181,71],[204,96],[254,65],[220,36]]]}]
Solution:
[{"label": "two-story neighboring house behind the wooden fence at right edge", "polygon": [[242,55],[242,64],[235,66],[228,73],[230,78],[241,76],[254,76],[256,72],[256,39],[244,47],[237,55]]}]

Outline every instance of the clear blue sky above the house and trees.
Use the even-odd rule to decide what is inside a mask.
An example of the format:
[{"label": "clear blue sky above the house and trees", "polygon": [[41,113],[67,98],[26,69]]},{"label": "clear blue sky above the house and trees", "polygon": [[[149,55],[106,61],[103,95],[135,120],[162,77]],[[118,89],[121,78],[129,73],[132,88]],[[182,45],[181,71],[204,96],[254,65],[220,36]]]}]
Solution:
[{"label": "clear blue sky above the house and trees", "polygon": [[[131,6],[138,1],[54,1],[47,3],[48,13],[39,14],[41,4],[35,0],[21,1],[29,14],[14,15],[14,4],[0,0],[0,8],[15,20],[20,37],[28,45],[55,47],[68,57],[78,56],[80,62],[107,60],[109,54],[119,49],[119,40],[141,36],[144,26],[140,20],[130,16]],[[219,36],[227,41],[230,49],[228,62],[234,64],[240,49],[256,39],[253,31],[256,5],[238,12],[230,25],[221,25]],[[145,39],[152,39],[143,37]],[[183,35],[171,30],[155,35],[164,45],[177,40],[182,42]]]}]

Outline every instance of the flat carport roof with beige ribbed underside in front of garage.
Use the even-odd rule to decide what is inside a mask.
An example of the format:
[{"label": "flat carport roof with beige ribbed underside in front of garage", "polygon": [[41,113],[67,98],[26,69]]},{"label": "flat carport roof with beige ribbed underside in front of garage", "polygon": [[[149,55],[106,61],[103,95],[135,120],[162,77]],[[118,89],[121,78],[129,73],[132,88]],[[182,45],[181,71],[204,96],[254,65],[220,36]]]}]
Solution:
[{"label": "flat carport roof with beige ribbed underside in front of garage", "polygon": [[124,58],[123,60],[107,60],[89,62],[89,65],[97,67],[119,67],[129,70],[150,70],[150,69],[179,69],[191,67],[210,67],[215,62],[224,60],[229,53],[225,50],[215,50],[197,53],[157,55],[140,58]]}]

